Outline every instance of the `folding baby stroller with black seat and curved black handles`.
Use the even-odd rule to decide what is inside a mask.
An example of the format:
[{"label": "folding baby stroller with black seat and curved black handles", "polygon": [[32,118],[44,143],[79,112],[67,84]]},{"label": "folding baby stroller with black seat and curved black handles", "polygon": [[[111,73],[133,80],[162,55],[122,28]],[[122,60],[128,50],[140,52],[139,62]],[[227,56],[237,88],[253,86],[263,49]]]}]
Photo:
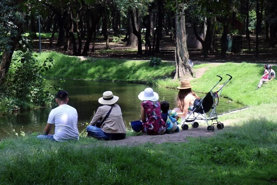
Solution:
[{"label": "folding baby stroller with black seat and curved black handles", "polygon": [[[228,75],[228,74],[227,74]],[[190,113],[189,115],[183,120],[183,124],[181,128],[183,130],[188,129],[188,125],[185,122],[192,122],[192,127],[197,128],[199,126],[199,123],[195,120],[204,120],[206,121],[208,127],[208,131],[214,131],[214,126],[216,125],[217,129],[223,129],[224,124],[217,121],[217,112],[216,112],[216,106],[218,105],[219,97],[222,91],[222,88],[232,79],[231,75],[228,75],[230,78],[223,84],[223,86],[218,89],[216,92],[213,92],[212,90],[217,86],[217,84],[222,80],[221,76],[216,75],[217,77],[220,77],[220,80],[216,83],[216,85],[203,97],[202,99],[196,99],[193,103],[193,106],[189,108]],[[210,110],[212,111],[210,112]],[[209,117],[206,116],[206,113],[209,113]],[[197,114],[196,114],[197,113]],[[209,125],[208,121],[214,121],[216,120],[216,123],[212,123],[212,125]]]}]

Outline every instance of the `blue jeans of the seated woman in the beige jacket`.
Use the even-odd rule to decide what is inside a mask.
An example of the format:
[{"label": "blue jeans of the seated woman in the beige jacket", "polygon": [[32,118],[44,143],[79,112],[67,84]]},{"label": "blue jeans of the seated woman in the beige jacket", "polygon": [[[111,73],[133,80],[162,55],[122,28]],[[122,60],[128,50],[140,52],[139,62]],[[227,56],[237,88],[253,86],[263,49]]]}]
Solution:
[{"label": "blue jeans of the seated woman in the beige jacket", "polygon": [[116,133],[116,134],[110,134],[102,131],[102,129],[89,125],[87,126],[87,133],[89,136],[96,137],[97,139],[104,139],[104,140],[119,140],[124,139],[126,137],[126,134]]}]

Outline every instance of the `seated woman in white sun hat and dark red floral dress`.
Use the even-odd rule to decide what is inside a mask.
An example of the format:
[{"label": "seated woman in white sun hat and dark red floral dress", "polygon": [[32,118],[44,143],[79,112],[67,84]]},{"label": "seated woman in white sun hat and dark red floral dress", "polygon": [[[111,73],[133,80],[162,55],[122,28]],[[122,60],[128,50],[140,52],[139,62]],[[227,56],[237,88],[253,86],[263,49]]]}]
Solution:
[{"label": "seated woman in white sun hat and dark red floral dress", "polygon": [[166,123],[162,119],[159,95],[152,88],[146,88],[138,95],[141,103],[142,132],[149,135],[164,134]]}]

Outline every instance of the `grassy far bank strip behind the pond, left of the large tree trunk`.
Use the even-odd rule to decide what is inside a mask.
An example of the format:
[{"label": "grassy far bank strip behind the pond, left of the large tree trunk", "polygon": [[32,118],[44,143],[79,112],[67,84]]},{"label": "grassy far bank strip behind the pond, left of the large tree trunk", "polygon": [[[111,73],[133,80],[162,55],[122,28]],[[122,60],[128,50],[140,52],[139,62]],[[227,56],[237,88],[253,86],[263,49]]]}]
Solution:
[{"label": "grassy far bank strip behind the pond, left of the large tree trunk", "polygon": [[146,61],[80,60],[56,52],[42,53],[39,60],[44,61],[47,57],[54,59],[54,67],[46,73],[46,77],[154,84],[156,79],[166,78],[174,71],[174,65],[169,62],[159,67],[149,67]]}]

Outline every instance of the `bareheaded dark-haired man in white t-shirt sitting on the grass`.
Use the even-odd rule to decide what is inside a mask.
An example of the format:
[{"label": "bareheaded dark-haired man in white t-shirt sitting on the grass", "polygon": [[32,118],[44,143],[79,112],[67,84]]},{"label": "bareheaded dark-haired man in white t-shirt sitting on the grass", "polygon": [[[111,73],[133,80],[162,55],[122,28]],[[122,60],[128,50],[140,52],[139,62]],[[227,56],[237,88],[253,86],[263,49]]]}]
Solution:
[{"label": "bareheaded dark-haired man in white t-shirt sitting on the grass", "polygon": [[[56,102],[59,104],[57,108],[51,110],[48,116],[46,127],[43,135],[39,135],[40,139],[50,139],[55,141],[64,141],[69,139],[79,139],[78,132],[78,114],[75,108],[67,105],[68,93],[60,90],[56,95]],[[55,134],[49,134],[55,124]]]}]

